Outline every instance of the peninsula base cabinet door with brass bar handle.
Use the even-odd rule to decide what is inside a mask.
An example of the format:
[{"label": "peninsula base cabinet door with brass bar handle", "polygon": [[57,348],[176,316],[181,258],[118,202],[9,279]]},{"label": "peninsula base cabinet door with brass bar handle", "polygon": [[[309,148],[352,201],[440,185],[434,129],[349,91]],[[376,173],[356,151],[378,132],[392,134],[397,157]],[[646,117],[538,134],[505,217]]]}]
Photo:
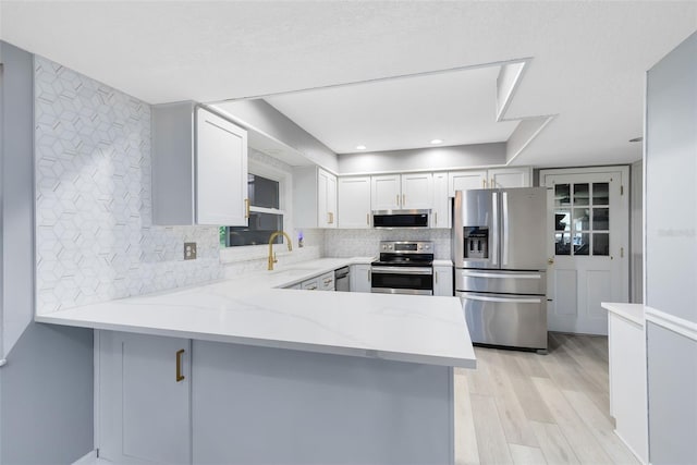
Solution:
[{"label": "peninsula base cabinet door with brass bar handle", "polygon": [[186,339],[99,332],[100,457],[191,463],[189,347]]}]

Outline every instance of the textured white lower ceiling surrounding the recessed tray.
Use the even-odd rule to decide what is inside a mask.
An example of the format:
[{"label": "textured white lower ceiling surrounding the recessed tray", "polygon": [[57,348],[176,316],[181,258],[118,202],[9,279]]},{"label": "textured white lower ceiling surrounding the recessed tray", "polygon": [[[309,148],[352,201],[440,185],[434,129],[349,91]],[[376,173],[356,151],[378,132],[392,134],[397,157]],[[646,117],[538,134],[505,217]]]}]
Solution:
[{"label": "textured white lower ceiling surrounding the recessed tray", "polygon": [[644,73],[696,29],[695,1],[0,1],[2,39],[150,103],[531,57],[506,118],[559,114],[515,159],[540,167],[639,159]]}]

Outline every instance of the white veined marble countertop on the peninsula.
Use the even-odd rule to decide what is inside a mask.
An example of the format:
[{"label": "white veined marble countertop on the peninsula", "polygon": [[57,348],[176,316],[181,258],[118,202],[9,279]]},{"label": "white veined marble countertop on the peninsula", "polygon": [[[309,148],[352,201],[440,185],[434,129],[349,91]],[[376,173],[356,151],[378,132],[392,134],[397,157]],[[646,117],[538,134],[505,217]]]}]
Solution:
[{"label": "white veined marble countertop on the peninsula", "polygon": [[474,368],[457,297],[278,289],[371,257],[322,258],[37,315],[105,330]]}]

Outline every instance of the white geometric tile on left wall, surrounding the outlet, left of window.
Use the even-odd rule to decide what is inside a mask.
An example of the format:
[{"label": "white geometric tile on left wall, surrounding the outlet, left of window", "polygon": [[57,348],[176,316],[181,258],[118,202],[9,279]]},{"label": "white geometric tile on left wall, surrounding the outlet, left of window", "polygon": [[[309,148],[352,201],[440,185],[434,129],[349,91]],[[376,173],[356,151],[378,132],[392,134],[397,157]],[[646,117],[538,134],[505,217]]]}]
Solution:
[{"label": "white geometric tile on left wall, surrounding the outlet, left of window", "polygon": [[218,228],[151,224],[147,103],[40,57],[35,96],[38,313],[222,277]]}]

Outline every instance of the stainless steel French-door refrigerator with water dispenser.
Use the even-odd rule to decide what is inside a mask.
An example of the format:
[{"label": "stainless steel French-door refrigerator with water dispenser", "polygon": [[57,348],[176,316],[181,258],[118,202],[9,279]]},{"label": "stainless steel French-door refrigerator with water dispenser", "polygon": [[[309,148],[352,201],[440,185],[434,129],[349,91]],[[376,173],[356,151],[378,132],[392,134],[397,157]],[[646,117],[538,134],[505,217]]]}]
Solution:
[{"label": "stainless steel French-door refrigerator with water dispenser", "polygon": [[547,189],[455,193],[455,295],[472,341],[547,351]]}]

